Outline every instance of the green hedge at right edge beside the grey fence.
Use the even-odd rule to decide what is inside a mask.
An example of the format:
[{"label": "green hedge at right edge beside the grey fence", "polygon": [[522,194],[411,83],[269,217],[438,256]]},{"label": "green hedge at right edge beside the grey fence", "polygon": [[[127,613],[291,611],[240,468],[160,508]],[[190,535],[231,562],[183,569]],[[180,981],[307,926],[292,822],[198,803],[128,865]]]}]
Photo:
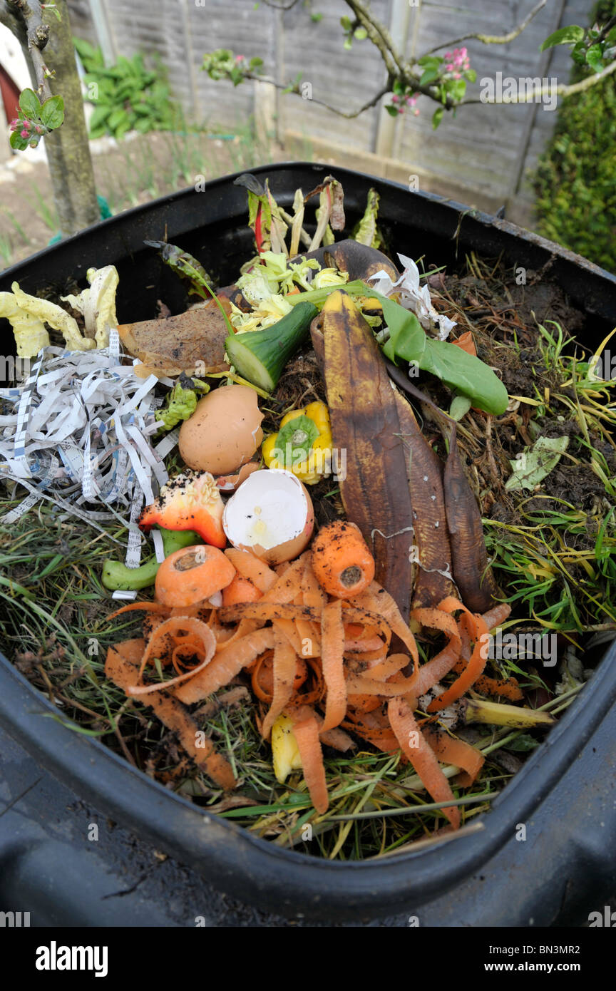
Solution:
[{"label": "green hedge at right edge beside the grey fence", "polygon": [[[600,7],[599,25],[616,15],[616,0]],[[584,60],[574,79],[595,70],[591,49]],[[616,272],[616,76],[567,97],[558,113],[535,175],[540,233]]]}]

